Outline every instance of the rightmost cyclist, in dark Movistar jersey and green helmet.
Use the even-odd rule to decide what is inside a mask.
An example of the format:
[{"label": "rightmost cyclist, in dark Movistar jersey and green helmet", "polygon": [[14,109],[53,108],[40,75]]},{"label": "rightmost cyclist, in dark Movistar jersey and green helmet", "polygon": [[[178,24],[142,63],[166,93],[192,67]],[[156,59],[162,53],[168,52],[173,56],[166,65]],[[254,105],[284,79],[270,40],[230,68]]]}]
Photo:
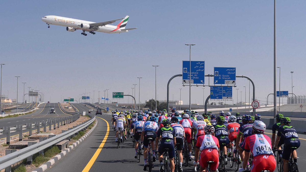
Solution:
[{"label": "rightmost cyclist, in dark Movistar jersey and green helmet", "polygon": [[[297,163],[297,151],[296,149],[300,147],[300,140],[297,136],[297,131],[293,126],[290,126],[290,118],[284,117],[280,120],[281,126],[278,128],[278,133],[275,141],[275,145],[278,145],[278,141],[280,137],[284,137],[284,150],[283,150],[283,170],[284,172],[288,172],[288,160],[291,156],[291,149],[293,151],[293,162]],[[274,148],[275,150],[276,148]]]}]

